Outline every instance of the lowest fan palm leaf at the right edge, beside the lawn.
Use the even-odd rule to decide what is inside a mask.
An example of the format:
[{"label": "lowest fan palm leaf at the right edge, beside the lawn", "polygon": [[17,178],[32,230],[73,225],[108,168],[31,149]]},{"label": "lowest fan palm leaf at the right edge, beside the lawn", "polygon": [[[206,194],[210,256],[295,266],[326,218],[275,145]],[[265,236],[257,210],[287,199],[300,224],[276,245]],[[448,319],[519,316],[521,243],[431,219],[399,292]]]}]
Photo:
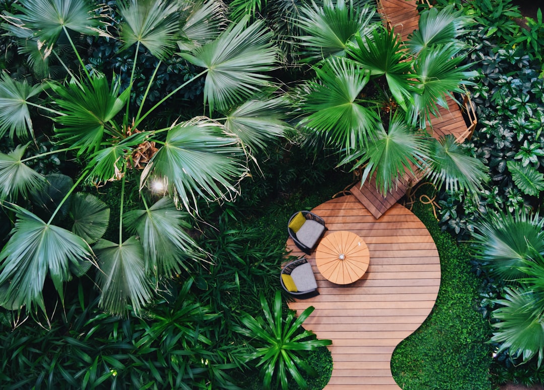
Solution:
[{"label": "lowest fan palm leaf at the right edge, beside the lawn", "polygon": [[543,308],[536,305],[537,297],[523,288],[504,288],[504,299],[494,301],[502,305],[491,313],[497,331],[491,342],[500,343],[499,351],[509,350],[512,357],[521,357],[523,362],[537,356],[538,366],[544,357]]}]

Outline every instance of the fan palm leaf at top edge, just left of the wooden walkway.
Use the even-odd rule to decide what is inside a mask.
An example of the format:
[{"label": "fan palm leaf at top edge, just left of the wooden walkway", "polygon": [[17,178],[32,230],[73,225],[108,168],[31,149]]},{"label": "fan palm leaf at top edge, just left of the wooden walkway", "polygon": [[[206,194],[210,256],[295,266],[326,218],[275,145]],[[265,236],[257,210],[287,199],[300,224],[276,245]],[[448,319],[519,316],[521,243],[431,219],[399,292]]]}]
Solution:
[{"label": "fan palm leaf at top edge, just left of the wooden walkway", "polygon": [[355,42],[355,35],[366,36],[376,27],[375,9],[370,6],[355,8],[353,2],[325,0],[322,6],[312,1],[299,9],[294,23],[302,34],[297,37],[305,48],[305,62],[320,61],[330,56],[345,56],[349,42]]}]

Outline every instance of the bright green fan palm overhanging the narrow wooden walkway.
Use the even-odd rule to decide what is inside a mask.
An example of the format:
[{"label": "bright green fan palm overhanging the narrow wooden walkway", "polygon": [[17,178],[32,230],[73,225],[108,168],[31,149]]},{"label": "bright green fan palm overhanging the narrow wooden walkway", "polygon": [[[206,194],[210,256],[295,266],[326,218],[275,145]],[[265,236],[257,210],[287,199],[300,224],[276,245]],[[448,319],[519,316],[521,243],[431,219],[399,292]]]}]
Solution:
[{"label": "bright green fan palm overhanging the narrow wooden walkway", "polygon": [[347,58],[314,66],[317,80],[301,98],[300,127],[335,147],[341,164],[366,166],[363,180],[375,173],[382,193],[416,170],[437,185],[480,188],[489,179],[477,159],[453,139],[438,142],[419,130],[475,76],[460,65],[461,45],[448,35],[462,33],[464,23],[447,7],[423,12],[419,31],[405,45],[383,26],[354,33],[345,53],[337,52]]}]

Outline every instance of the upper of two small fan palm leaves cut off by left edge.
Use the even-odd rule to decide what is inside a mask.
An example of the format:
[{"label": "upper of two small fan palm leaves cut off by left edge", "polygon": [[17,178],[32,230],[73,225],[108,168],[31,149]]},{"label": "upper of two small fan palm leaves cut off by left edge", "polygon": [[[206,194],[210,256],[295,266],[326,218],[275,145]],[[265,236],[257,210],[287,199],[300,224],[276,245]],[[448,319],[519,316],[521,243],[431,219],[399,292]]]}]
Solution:
[{"label": "upper of two small fan palm leaves cut off by left edge", "polygon": [[26,80],[16,81],[2,72],[0,78],[0,137],[9,130],[9,137],[26,139],[34,137],[34,128],[28,102],[43,90],[41,84],[29,85]]}]

